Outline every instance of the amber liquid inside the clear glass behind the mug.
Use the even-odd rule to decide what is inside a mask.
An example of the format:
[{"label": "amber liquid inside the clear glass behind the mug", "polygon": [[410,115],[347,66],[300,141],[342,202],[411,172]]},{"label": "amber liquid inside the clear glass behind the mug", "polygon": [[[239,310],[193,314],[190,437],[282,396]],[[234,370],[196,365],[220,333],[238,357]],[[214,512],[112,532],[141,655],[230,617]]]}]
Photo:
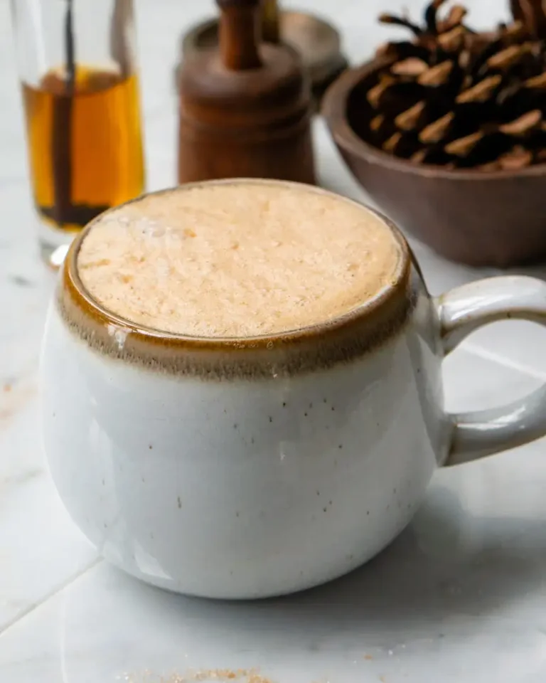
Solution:
[{"label": "amber liquid inside the clear glass behind the mug", "polygon": [[[77,231],[107,208],[141,194],[136,75],[124,78],[77,66],[73,92],[67,95],[63,75],[50,71],[38,88],[23,84],[23,102],[34,201],[47,223]],[[69,125],[60,122],[59,112],[65,120],[68,116]],[[65,172],[61,197],[59,176]]]}]

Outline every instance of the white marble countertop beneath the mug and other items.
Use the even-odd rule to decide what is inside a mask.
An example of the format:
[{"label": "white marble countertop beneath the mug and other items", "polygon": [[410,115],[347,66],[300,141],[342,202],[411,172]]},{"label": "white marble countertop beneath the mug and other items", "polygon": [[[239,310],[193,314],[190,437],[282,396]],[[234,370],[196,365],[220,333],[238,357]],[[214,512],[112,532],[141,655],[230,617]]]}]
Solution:
[{"label": "white marble countertop beneath the mug and other items", "polygon": [[[336,21],[354,61],[385,38],[375,14],[400,4],[298,2]],[[500,18],[498,5],[473,3],[475,23]],[[156,189],[175,178],[178,34],[213,4],[138,0],[137,10],[149,188]],[[36,367],[54,278],[36,252],[13,55],[9,1],[0,0],[0,681],[174,683],[232,669],[242,683],[544,683],[542,440],[438,472],[410,527],[379,558],[292,598],[178,597],[97,558],[64,512],[41,450]],[[314,133],[322,184],[363,198],[320,120]],[[413,246],[434,294],[496,274]],[[532,274],[546,277],[546,268]],[[496,324],[446,361],[445,378],[452,410],[518,398],[545,381],[546,333]]]}]

